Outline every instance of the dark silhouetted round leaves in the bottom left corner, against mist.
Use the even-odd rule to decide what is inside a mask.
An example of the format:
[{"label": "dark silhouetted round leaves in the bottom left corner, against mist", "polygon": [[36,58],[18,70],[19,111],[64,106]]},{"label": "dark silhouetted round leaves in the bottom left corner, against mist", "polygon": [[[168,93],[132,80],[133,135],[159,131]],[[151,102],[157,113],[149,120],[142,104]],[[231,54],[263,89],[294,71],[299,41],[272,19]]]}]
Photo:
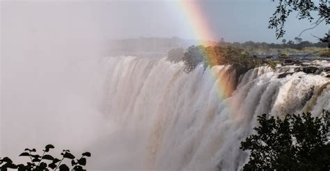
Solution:
[{"label": "dark silhouetted round leaves in the bottom left corner, against mist", "polygon": [[[84,152],[81,154],[80,159],[75,159],[76,157],[70,153],[70,150],[63,150],[61,153],[62,158],[57,159],[56,157],[47,154],[50,149],[53,149],[54,145],[46,145],[45,150],[42,150],[43,153],[40,156],[39,154],[35,154],[37,151],[35,148],[32,150],[29,148],[26,148],[22,154],[19,154],[19,156],[28,156],[31,162],[27,162],[24,164],[15,164],[11,159],[9,159],[7,156],[0,158],[0,170],[6,171],[8,169],[17,169],[18,171],[47,171],[47,170],[57,170],[60,171],[67,171],[70,170],[68,165],[65,165],[63,160],[70,159],[72,170],[74,171],[83,171],[84,166],[86,165],[86,157],[90,157],[90,152]],[[62,163],[62,164],[61,164]]]}]

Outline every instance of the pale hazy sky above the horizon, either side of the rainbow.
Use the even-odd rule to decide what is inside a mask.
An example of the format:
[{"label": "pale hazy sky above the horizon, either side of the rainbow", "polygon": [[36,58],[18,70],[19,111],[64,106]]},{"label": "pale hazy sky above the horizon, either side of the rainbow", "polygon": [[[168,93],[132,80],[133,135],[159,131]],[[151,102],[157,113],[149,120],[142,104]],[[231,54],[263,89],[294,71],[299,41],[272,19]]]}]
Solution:
[{"label": "pale hazy sky above the horizon, either side of the rainbow", "polygon": [[[276,2],[267,0],[195,1],[213,39],[229,42],[275,42],[268,19]],[[178,1],[1,1],[3,32],[32,37],[63,39],[120,39],[129,37],[173,37],[196,39],[194,19],[184,13]],[[297,37],[311,26],[292,15],[285,26],[285,39]],[[324,24],[302,35],[327,33]],[[7,34],[7,33],[6,33]],[[280,42],[280,41],[278,41]]]}]

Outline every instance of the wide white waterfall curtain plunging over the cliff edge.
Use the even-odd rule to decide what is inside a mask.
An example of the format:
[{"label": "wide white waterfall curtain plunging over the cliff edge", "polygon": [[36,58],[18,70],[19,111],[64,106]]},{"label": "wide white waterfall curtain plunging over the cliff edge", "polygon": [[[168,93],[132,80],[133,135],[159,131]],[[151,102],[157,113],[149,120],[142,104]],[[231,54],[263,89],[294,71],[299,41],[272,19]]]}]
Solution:
[{"label": "wide white waterfall curtain plunging over the cliff edge", "polygon": [[182,62],[165,58],[109,57],[102,64],[100,108],[111,132],[95,143],[99,159],[93,165],[104,168],[238,170],[247,160],[240,142],[258,115],[317,116],[330,109],[329,78],[321,75],[278,78],[281,69],[262,66],[241,75],[223,98],[219,84],[226,87],[236,76],[230,66],[199,65],[184,73]]}]

